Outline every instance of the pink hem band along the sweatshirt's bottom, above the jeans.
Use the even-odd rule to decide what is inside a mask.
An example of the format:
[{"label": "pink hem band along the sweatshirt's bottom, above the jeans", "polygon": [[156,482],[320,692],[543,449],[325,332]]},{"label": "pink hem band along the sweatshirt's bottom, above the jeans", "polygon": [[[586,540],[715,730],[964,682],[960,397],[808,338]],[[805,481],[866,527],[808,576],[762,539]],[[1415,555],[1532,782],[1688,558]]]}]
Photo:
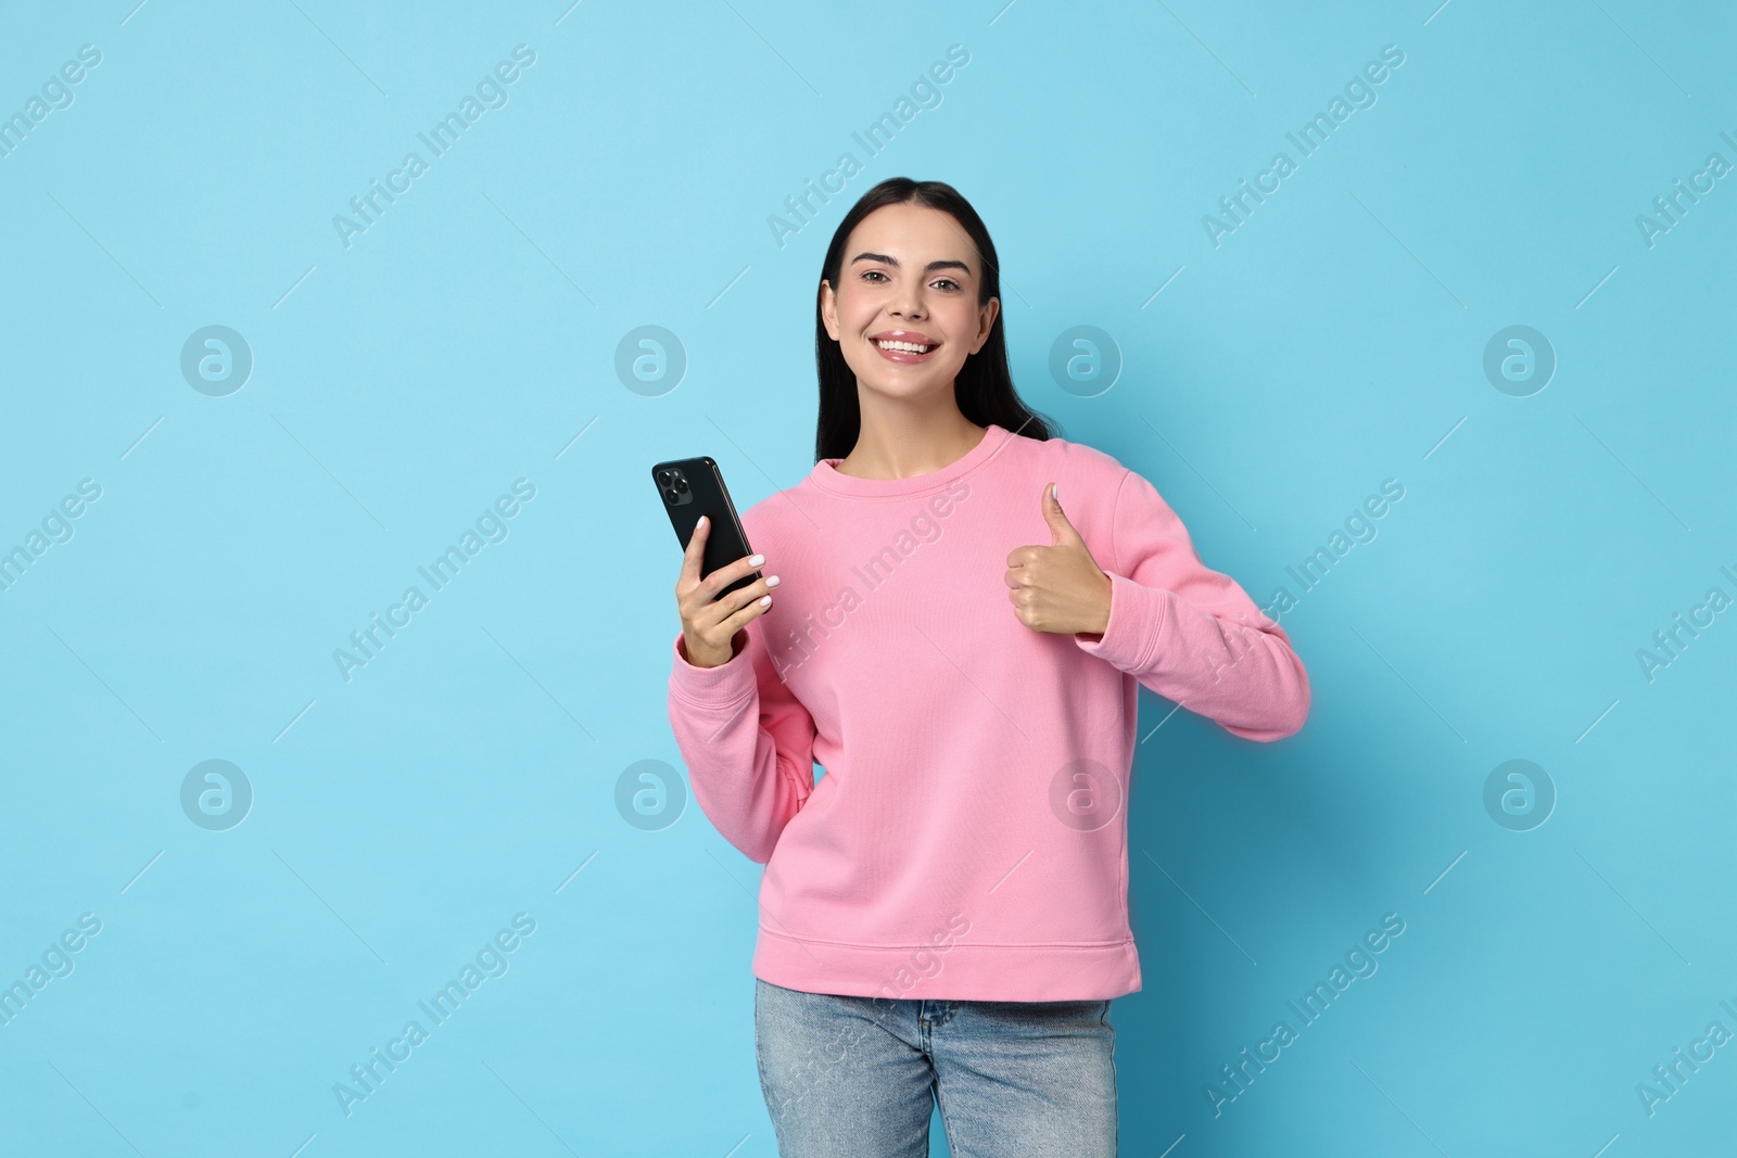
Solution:
[{"label": "pink hem band along the sweatshirt's bottom, above the jeans", "polygon": [[804,993],[952,1002],[1103,1002],[1141,988],[1133,938],[877,948],[801,941],[764,925],[754,946],[754,976]]}]

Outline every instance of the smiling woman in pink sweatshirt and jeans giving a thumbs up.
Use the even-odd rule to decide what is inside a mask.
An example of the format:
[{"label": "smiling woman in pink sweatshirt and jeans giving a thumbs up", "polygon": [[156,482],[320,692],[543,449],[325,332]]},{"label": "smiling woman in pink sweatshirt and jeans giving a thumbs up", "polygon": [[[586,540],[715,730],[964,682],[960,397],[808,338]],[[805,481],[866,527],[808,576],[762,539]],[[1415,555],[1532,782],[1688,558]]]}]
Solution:
[{"label": "smiling woman in pink sweatshirt and jeans giving a thumbs up", "polygon": [[1308,675],[1146,479],[1020,401],[995,247],[950,186],[846,214],[815,354],[815,469],[703,580],[702,523],[669,681],[695,799],[766,865],[778,1153],[926,1155],[938,1106],[961,1158],[1113,1155],[1139,686],[1278,740]]}]

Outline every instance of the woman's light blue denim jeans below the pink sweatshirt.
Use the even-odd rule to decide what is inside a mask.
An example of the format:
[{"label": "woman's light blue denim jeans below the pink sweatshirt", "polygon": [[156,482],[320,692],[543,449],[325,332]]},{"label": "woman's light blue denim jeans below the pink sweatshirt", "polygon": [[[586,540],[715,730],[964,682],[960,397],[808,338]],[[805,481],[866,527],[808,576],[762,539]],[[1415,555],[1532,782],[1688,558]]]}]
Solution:
[{"label": "woman's light blue denim jeans below the pink sweatshirt", "polygon": [[802,993],[754,979],[754,1052],[780,1158],[1113,1158],[1110,1002]]}]

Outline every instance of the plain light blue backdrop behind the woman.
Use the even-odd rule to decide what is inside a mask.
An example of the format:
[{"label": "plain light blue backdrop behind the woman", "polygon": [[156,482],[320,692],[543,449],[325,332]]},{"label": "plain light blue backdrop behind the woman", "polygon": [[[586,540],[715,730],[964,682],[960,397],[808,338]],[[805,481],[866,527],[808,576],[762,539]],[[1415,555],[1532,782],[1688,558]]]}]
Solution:
[{"label": "plain light blue backdrop behind the woman", "polygon": [[[710,453],[742,507],[809,470],[820,259],[889,175],[976,205],[1023,398],[1259,602],[1405,486],[1282,618],[1303,733],[1141,693],[1124,1153],[1732,1137],[1737,1045],[1654,1116],[1635,1090],[1737,1031],[1737,613],[1636,661],[1737,595],[1737,177],[1654,247],[1635,224],[1737,163],[1727,5],[132,3],[0,35],[7,115],[102,52],[0,158],[0,549],[102,488],[0,592],[0,983],[102,922],[0,1026],[9,1151],[775,1155],[761,870],[691,799],[660,832],[615,806],[679,766],[648,467]],[[519,43],[505,108],[346,248],[332,217]],[[1214,248],[1200,217],[1388,43],[1377,102]],[[842,151],[863,172],[780,248]],[[254,354],[226,398],[179,370],[207,325]],[[615,373],[643,325],[688,358],[651,396]],[[1047,370],[1075,325],[1124,359],[1093,398]],[[1529,398],[1482,370],[1509,325],[1558,358]],[[346,682],[332,651],[519,477],[507,538]],[[208,759],[254,786],[228,832],[181,809]],[[1560,797],[1530,832],[1483,807],[1509,759]],[[334,1083],[519,911],[509,972],[346,1116]],[[1214,1116],[1219,1066],[1388,911],[1379,972]]]}]

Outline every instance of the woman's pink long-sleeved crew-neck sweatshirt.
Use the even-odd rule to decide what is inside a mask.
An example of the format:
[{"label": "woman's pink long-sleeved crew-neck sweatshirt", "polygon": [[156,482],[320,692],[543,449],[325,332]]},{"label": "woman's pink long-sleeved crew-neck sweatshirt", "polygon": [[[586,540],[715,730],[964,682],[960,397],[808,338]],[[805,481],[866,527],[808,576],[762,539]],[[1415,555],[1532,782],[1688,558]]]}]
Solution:
[{"label": "woman's pink long-sleeved crew-neck sweatshirt", "polygon": [[[1139,474],[990,425],[908,479],[815,464],[742,514],[778,575],[728,663],[676,634],[693,797],[761,878],[754,976],[790,990],[1105,1000],[1139,990],[1127,781],[1139,684],[1247,740],[1308,715],[1285,632]],[[1103,635],[1037,632],[1007,556],[1042,495],[1110,576]],[[815,783],[815,764],[825,774]]]}]

